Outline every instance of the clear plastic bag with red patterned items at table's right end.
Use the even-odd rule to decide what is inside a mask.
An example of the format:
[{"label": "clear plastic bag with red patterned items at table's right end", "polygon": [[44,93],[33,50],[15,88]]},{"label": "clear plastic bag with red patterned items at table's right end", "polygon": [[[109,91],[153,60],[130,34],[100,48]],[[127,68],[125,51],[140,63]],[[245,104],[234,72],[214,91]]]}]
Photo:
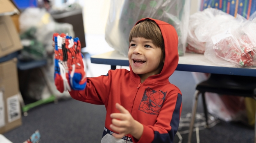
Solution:
[{"label": "clear plastic bag with red patterned items at table's right end", "polygon": [[212,41],[206,43],[204,56],[213,63],[222,65],[255,66],[256,47],[254,35],[256,30],[254,28],[256,27],[252,24],[252,22],[247,21],[243,27],[231,27],[220,34],[212,36]]}]

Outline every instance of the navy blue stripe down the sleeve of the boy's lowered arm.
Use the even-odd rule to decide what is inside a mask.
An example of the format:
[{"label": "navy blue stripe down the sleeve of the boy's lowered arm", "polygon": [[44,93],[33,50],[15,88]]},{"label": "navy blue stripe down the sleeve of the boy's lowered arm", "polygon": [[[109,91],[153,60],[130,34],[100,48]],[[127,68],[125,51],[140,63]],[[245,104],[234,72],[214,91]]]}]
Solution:
[{"label": "navy blue stripe down the sleeve of the boy's lowered arm", "polygon": [[152,143],[173,143],[174,136],[177,133],[179,127],[181,101],[181,94],[178,94],[175,109],[172,113],[172,121],[170,123],[172,129],[168,132],[168,134],[160,134],[159,132],[154,131],[154,140]]}]

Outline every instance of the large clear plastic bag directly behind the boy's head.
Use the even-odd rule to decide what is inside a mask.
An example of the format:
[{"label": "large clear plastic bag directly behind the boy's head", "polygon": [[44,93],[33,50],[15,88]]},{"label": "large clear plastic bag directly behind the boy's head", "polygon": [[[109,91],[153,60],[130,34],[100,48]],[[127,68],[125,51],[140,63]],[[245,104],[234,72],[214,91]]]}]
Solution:
[{"label": "large clear plastic bag directly behind the boy's head", "polygon": [[127,56],[132,27],[141,18],[154,18],[174,26],[179,38],[179,56],[182,56],[186,48],[189,9],[190,0],[111,0],[105,40]]}]

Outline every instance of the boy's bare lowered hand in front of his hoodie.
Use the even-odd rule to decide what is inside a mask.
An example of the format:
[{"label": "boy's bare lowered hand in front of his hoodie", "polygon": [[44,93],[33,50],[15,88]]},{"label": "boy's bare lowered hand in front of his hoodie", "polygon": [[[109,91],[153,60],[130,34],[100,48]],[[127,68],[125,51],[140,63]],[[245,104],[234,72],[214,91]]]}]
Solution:
[{"label": "boy's bare lowered hand in front of his hoodie", "polygon": [[120,104],[116,103],[116,109],[121,113],[112,113],[110,117],[112,118],[111,129],[119,134],[112,134],[116,138],[122,138],[127,134],[131,134],[136,139],[140,139],[143,133],[143,125],[138,121],[134,120],[130,112],[127,111]]}]

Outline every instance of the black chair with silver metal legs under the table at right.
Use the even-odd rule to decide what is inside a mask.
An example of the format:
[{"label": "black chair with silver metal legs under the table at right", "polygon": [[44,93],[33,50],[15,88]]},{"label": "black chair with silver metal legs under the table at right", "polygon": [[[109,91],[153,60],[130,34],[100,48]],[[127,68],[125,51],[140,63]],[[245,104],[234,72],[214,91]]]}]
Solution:
[{"label": "black chair with silver metal legs under the table at right", "polygon": [[[205,92],[217,94],[226,94],[230,96],[251,97],[256,100],[256,77],[251,76],[234,76],[223,74],[211,74],[208,80],[199,83],[196,87],[195,98],[193,103],[192,115],[190,120],[188,143],[191,143],[195,114],[197,110],[198,97],[202,94],[204,115],[206,118],[206,127],[208,128],[207,106],[205,102]],[[254,143],[256,143],[256,124],[254,128]]]}]

